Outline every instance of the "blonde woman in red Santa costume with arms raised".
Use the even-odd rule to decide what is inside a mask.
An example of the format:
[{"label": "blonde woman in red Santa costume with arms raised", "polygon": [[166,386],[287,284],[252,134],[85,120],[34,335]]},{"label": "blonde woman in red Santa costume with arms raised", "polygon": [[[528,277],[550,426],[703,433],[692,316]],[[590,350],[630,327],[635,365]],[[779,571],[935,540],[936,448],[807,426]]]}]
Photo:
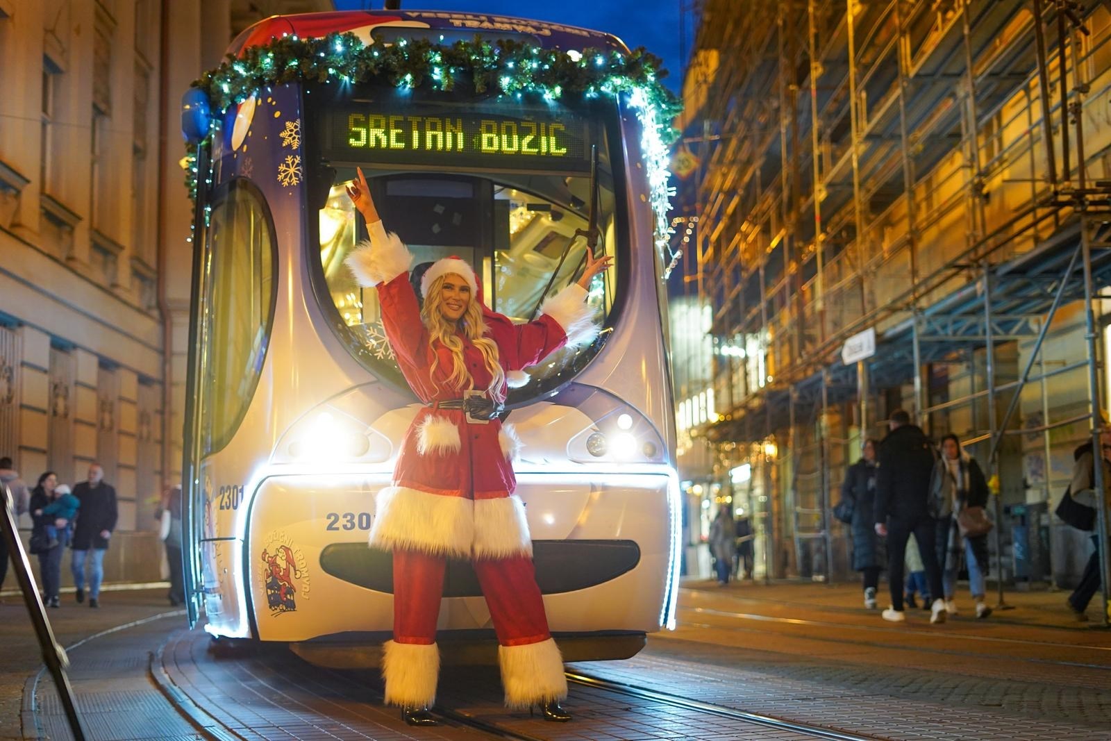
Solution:
[{"label": "blonde woman in red Santa costume with arms raised", "polygon": [[524,505],[513,493],[511,459],[519,442],[497,414],[507,375],[543,360],[597,328],[585,303],[591,278],[609,267],[594,259],[577,283],[541,306],[526,324],[482,304],[474,271],[459,258],[432,263],[420,280],[423,306],[409,280],[412,256],[387,233],[367,180],[348,194],[370,241],[348,257],[361,286],[377,286],[382,324],[398,366],[424,403],[406,432],[393,484],[378,493],[370,544],[393,552],[393,640],[382,659],[386,702],[407,722],[434,724],[440,654],[436,623],[448,558],[472,562],[494,632],[506,704],[539,704],[547,720],[567,721],[563,660],[548,631],[532,565]]}]

